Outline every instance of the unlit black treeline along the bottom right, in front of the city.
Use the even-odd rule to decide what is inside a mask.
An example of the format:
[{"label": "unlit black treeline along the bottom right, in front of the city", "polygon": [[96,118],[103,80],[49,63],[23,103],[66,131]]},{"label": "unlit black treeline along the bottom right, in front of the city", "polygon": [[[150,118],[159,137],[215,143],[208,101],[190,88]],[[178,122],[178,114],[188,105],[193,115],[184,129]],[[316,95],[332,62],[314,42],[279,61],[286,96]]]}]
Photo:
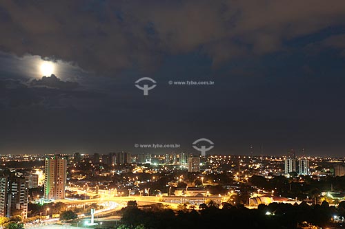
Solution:
[{"label": "unlit black treeline along the bottom right, in front of the city", "polygon": [[[345,201],[337,208],[321,205],[262,204],[257,209],[224,204],[217,208],[213,204],[201,204],[199,210],[179,210],[155,208],[142,210],[130,206],[122,210],[122,228],[297,228],[304,221],[322,228],[332,225],[333,215],[345,216]],[[333,223],[335,224],[335,223]]]}]

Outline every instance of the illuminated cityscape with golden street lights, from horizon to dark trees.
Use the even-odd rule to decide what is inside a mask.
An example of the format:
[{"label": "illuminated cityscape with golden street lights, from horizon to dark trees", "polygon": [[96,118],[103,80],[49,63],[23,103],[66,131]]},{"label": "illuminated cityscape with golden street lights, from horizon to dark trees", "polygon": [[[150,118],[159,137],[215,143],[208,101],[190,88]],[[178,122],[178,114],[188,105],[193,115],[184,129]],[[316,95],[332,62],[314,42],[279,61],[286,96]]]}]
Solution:
[{"label": "illuminated cityscape with golden street lights, from horizon to dark trees", "polygon": [[[0,162],[1,215],[36,219],[39,214],[41,223],[34,226],[57,223],[61,212],[56,204],[72,209],[84,223],[94,209],[93,226],[99,226],[105,216],[121,219],[119,209],[131,201],[143,209],[163,204],[188,211],[209,201],[223,208],[226,203],[259,209],[260,204],[313,206],[324,201],[337,206],[345,200],[345,157],[120,151],[1,155]],[[341,215],[337,221],[343,221]]]}]

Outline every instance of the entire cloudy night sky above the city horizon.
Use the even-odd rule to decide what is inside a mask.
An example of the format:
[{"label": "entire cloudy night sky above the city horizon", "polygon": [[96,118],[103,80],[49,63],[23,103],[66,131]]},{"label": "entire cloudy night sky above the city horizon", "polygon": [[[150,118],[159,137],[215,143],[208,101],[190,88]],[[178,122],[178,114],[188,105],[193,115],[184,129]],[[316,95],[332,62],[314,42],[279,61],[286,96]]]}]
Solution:
[{"label": "entire cloudy night sky above the city horizon", "polygon": [[345,155],[343,0],[1,1],[0,31],[1,154]]}]

